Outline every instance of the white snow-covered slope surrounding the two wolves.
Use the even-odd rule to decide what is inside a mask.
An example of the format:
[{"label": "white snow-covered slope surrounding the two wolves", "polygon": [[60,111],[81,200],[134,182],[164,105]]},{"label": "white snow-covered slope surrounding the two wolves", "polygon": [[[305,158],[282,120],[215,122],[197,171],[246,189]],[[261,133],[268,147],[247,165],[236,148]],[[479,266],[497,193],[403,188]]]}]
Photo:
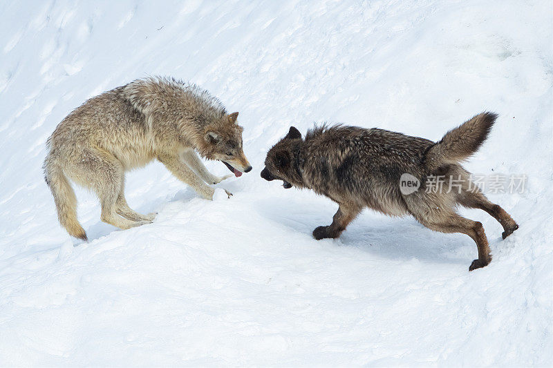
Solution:
[{"label": "white snow-covered slope surrounding the two wolves", "polygon": [[[0,2],[0,365],[553,365],[553,30],[543,1]],[[57,223],[41,164],[76,106],[145,75],[240,111],[254,171],[201,200],[158,163],[127,175],[158,211],[120,231],[77,189],[90,242]],[[527,175],[488,193],[521,228],[476,246],[259,177],[290,125],[344,122],[440,139],[500,114],[467,163]],[[208,167],[227,173],[219,162]]]}]

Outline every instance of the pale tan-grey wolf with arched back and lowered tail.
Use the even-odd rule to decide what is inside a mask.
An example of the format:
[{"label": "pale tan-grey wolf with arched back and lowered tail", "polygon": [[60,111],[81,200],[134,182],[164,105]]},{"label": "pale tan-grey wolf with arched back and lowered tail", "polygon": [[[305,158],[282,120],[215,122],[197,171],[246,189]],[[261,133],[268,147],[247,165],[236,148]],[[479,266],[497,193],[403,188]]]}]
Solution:
[{"label": "pale tan-grey wolf with arched back and lowered tail", "polygon": [[223,162],[236,177],[252,170],[237,117],[206,90],[169,77],[136,79],[88,99],[47,141],[44,177],[59,223],[70,235],[87,240],[70,180],[97,194],[103,222],[120,229],[152,222],[155,214],[142,215],[126,203],[124,174],[153,159],[212,200],[214,188],[208,184],[232,174],[209,173],[196,152]]}]

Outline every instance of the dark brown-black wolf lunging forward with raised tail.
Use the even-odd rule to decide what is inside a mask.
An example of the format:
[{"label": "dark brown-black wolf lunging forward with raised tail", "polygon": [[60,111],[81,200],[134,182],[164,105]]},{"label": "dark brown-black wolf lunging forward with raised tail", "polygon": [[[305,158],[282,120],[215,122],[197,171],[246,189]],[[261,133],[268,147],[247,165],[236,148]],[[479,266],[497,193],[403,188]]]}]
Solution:
[{"label": "dark brown-black wolf lunging forward with raised tail", "polygon": [[[313,231],[317,240],[339,237],[366,207],[391,216],[410,214],[434,231],[469,235],[478,247],[478,259],[469,267],[473,271],[491,261],[489,245],[482,223],[459,215],[457,206],[489,213],[503,226],[503,239],[518,229],[505,210],[471,188],[470,173],[460,165],[480,148],[496,118],[476,115],[440,142],[342,125],[315,126],[302,139],[292,126],[268,151],[261,177],[282,180],[284,188],[310,188],[339,204],[332,224]],[[418,187],[402,191],[402,175],[410,175]],[[442,191],[428,184],[436,177],[444,180]],[[450,184],[454,189],[447,191]]]}]

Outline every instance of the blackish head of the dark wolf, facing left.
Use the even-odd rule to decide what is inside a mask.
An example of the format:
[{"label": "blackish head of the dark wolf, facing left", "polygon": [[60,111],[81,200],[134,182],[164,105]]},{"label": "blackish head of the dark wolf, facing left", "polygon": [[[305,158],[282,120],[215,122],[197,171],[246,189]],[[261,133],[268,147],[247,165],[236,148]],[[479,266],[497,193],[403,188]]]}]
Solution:
[{"label": "blackish head of the dark wolf, facing left", "polygon": [[263,179],[282,180],[282,186],[286,189],[297,186],[302,188],[303,178],[299,171],[299,148],[301,146],[301,133],[290,127],[288,134],[281,139],[267,153],[265,168],[261,171]]}]

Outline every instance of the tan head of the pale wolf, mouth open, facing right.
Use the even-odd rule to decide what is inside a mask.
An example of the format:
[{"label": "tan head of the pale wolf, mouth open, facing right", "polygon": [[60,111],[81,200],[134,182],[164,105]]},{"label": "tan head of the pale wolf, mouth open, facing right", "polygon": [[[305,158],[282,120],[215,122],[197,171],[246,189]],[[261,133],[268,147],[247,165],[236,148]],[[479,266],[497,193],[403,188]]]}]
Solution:
[{"label": "tan head of the pale wolf, mouth open, facing right", "polygon": [[252,170],[252,166],[242,150],[244,128],[236,123],[236,117],[238,113],[224,115],[221,121],[206,126],[202,151],[205,158],[218,159],[238,177]]}]

